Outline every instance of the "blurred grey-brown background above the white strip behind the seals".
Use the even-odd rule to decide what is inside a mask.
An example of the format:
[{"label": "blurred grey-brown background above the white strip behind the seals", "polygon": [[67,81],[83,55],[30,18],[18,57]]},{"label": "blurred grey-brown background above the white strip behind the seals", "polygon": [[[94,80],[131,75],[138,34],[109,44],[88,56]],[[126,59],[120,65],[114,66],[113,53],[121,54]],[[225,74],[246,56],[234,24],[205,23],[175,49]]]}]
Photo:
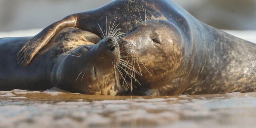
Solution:
[{"label": "blurred grey-brown background above the white strip behind the seals", "polygon": [[[45,28],[65,16],[111,0],[0,0],[0,32]],[[256,0],[173,0],[219,29],[256,30]]]}]

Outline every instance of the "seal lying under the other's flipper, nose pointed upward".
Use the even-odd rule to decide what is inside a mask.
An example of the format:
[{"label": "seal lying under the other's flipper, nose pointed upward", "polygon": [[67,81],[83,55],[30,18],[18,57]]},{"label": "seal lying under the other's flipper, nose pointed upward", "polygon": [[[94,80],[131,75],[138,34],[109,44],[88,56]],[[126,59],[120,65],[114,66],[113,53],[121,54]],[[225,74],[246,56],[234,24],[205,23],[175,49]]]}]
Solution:
[{"label": "seal lying under the other's flipper, nose pointed upward", "polygon": [[100,40],[91,32],[65,28],[25,68],[16,64],[16,54],[30,38],[0,39],[0,90],[58,87],[82,94],[118,95],[126,89],[113,67],[120,61],[114,38]]}]

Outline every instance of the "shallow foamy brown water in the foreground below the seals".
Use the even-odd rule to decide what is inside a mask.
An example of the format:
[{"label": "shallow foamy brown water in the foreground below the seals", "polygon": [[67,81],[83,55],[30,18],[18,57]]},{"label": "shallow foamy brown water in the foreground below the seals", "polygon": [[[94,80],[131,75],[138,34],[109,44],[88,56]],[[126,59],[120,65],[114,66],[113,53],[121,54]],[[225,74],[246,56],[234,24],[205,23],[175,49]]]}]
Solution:
[{"label": "shallow foamy brown water in the foreground below the seals", "polygon": [[256,93],[138,97],[0,92],[0,128],[247,128],[255,120]]}]

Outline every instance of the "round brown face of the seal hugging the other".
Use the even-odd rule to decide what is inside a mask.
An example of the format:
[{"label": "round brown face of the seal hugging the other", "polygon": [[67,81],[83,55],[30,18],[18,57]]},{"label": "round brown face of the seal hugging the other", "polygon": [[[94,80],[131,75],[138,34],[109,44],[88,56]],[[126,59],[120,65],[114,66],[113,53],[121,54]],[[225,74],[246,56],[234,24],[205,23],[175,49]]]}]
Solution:
[{"label": "round brown face of the seal hugging the other", "polygon": [[[122,56],[135,61],[145,88],[158,88],[175,79],[184,56],[184,40],[178,28],[166,20],[151,20],[135,26],[122,39]],[[136,84],[134,84],[136,85]],[[138,85],[137,85],[138,86]]]}]

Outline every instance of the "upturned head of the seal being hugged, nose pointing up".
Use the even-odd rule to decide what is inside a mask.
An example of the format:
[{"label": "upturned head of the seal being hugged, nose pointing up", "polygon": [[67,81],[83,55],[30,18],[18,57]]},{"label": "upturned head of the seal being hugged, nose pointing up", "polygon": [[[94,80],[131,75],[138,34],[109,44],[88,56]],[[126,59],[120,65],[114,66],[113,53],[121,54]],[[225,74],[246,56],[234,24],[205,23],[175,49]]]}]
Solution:
[{"label": "upturned head of the seal being hugged, nose pointing up", "polygon": [[[120,62],[119,46],[114,38],[104,38],[95,45],[84,45],[65,56],[56,69],[56,86],[94,95],[117,95],[120,89],[119,76],[114,65]],[[70,53],[70,54],[72,54]]]}]

